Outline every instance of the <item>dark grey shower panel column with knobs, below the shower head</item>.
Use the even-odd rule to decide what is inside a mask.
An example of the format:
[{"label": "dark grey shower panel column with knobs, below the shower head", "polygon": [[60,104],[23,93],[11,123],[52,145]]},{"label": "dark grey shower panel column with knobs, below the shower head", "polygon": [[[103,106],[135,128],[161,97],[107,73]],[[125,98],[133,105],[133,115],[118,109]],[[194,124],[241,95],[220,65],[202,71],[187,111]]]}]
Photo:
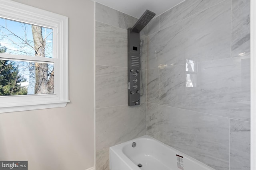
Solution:
[{"label": "dark grey shower panel column with knobs, below the shower head", "polygon": [[128,106],[140,104],[140,33],[128,29]]}]

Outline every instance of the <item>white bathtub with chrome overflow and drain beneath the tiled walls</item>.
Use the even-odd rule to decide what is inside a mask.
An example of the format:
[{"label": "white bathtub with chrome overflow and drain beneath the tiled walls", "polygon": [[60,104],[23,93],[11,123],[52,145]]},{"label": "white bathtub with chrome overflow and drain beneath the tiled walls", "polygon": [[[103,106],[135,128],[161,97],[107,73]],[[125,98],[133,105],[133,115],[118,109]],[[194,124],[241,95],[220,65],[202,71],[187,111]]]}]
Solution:
[{"label": "white bathtub with chrome overflow and drain beneath the tiled walls", "polygon": [[109,154],[110,170],[214,170],[148,135],[110,147]]}]

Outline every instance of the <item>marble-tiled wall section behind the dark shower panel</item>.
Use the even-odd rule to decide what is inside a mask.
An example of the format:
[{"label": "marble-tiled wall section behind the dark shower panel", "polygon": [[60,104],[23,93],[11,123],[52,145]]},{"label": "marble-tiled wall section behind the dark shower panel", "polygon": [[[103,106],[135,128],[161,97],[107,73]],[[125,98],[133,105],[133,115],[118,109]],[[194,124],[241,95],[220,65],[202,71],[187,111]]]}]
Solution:
[{"label": "marble-tiled wall section behind the dark shower panel", "polygon": [[[127,29],[137,20],[96,3],[96,170],[109,170],[109,147],[146,135],[146,45],[144,96],[140,106],[127,105]],[[140,39],[146,44],[146,30]]]}]

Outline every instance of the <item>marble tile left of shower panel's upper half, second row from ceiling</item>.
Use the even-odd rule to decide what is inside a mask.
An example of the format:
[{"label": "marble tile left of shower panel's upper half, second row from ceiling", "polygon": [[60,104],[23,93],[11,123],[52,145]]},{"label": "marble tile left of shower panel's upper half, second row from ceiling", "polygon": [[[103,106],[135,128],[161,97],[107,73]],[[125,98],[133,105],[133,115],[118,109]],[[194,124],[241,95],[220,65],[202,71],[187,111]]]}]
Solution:
[{"label": "marble tile left of shower panel's upper half, second row from ceiling", "polygon": [[97,65],[127,67],[127,30],[96,21]]}]

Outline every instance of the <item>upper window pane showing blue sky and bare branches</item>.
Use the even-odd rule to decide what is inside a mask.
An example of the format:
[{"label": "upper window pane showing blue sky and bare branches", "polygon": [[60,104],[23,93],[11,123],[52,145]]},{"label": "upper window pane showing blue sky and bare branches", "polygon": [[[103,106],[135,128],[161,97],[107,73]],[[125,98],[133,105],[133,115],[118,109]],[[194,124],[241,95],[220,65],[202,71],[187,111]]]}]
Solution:
[{"label": "upper window pane showing blue sky and bare branches", "polygon": [[53,29],[0,18],[0,53],[52,58]]}]

